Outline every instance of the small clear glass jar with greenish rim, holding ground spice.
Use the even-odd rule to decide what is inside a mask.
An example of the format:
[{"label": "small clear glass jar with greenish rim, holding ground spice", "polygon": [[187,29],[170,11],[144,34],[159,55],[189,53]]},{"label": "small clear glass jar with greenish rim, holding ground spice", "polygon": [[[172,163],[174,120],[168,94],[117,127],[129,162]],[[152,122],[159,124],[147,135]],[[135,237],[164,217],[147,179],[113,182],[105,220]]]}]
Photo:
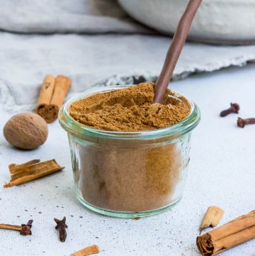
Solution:
[{"label": "small clear glass jar with greenish rim, holding ground spice", "polygon": [[90,89],[60,110],[60,124],[69,137],[75,191],[81,204],[97,213],[151,216],[166,211],[183,195],[191,130],[200,121],[200,111],[189,101],[191,113],[181,123],[137,132],[99,130],[69,116],[72,102],[122,88]]}]

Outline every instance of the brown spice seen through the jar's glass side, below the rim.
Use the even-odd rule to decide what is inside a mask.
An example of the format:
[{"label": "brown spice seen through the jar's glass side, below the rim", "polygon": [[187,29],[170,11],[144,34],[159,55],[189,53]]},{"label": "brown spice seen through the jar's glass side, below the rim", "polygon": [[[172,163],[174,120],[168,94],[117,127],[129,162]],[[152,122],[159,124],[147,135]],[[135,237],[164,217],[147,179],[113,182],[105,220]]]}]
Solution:
[{"label": "brown spice seen through the jar's glass side, below the rim", "polygon": [[181,145],[149,140],[73,144],[77,187],[89,204],[111,211],[151,211],[180,199]]}]

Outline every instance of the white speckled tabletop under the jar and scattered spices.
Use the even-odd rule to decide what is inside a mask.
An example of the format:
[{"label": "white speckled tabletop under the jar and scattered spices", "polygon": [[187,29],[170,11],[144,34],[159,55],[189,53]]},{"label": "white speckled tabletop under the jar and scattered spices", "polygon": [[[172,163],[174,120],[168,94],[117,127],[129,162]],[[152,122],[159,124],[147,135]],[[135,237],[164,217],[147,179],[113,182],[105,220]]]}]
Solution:
[{"label": "white speckled tabletop under the jar and scattered spices", "polygon": [[[255,117],[255,65],[196,74],[171,88],[196,101],[202,112],[193,131],[191,162],[183,199],[171,211],[139,221],[100,216],[87,211],[74,196],[67,135],[59,123],[49,125],[45,145],[21,151],[0,133],[0,184],[8,181],[8,165],[55,158],[64,171],[19,187],[0,189],[0,223],[26,223],[32,218],[33,235],[23,237],[0,230],[0,255],[67,256],[96,244],[102,256],[199,255],[196,236],[210,205],[225,210],[221,224],[255,208],[255,126],[237,128],[237,116]],[[220,118],[230,102],[240,114]],[[0,129],[11,115],[1,111]],[[67,240],[61,243],[54,217],[67,217]],[[222,256],[255,255],[255,240]]]}]

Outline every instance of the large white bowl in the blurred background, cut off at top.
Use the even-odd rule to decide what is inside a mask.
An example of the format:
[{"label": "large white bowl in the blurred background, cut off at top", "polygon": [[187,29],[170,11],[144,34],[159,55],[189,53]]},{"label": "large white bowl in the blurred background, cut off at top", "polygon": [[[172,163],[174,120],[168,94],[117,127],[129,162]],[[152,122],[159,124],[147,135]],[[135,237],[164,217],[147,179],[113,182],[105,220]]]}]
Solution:
[{"label": "large white bowl in the blurred background, cut off at top", "polygon": [[[188,0],[118,0],[141,23],[173,35]],[[206,43],[255,43],[255,0],[203,0],[188,36]]]}]

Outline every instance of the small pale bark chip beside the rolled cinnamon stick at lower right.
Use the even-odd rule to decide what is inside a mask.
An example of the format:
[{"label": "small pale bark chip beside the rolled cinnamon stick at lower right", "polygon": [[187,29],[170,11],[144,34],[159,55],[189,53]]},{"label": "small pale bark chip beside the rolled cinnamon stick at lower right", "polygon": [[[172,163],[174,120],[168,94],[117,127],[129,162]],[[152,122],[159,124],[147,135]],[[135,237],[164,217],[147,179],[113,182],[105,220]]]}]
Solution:
[{"label": "small pale bark chip beside the rolled cinnamon stick at lower right", "polygon": [[204,228],[217,226],[217,224],[220,223],[220,219],[222,218],[223,214],[224,214],[224,211],[220,207],[217,207],[217,206],[208,207],[200,226],[200,232]]}]

